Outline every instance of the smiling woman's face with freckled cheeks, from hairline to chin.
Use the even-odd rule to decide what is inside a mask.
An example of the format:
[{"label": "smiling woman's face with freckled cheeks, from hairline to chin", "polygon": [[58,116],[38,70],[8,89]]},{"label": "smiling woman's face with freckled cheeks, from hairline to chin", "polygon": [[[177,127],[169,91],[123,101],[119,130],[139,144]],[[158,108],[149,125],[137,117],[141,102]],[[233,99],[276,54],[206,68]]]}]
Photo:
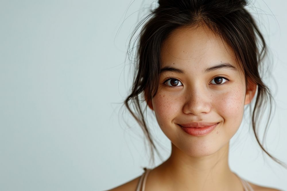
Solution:
[{"label": "smiling woman's face with freckled cheeks, from hairline to chin", "polygon": [[148,103],[160,128],[188,155],[215,153],[235,134],[249,103],[234,52],[198,27],[174,31],[161,56],[160,84]]}]

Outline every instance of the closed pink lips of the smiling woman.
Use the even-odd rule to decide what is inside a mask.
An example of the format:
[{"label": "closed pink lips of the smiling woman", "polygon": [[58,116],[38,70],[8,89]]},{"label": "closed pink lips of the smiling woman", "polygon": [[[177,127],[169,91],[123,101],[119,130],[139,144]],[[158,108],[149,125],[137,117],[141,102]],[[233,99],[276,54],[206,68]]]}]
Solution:
[{"label": "closed pink lips of the smiling woman", "polygon": [[183,131],[193,136],[204,136],[210,133],[218,123],[201,123],[201,122],[192,122],[185,124],[178,124]]}]

